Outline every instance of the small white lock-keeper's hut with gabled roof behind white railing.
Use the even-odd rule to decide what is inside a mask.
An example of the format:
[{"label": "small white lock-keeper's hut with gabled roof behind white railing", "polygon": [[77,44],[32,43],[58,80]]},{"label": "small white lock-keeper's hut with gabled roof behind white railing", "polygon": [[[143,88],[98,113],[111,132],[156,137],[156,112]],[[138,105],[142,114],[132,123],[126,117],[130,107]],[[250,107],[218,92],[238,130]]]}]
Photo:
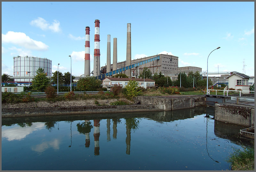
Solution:
[{"label": "small white lock-keeper's hut with gabled roof behind white railing", "polygon": [[[228,79],[228,88],[235,88],[241,89],[243,91],[249,91],[249,79],[251,77],[244,75],[238,72],[231,72],[230,75],[227,77]],[[242,92],[243,93],[243,92]],[[244,92],[249,93],[249,92]]]}]

